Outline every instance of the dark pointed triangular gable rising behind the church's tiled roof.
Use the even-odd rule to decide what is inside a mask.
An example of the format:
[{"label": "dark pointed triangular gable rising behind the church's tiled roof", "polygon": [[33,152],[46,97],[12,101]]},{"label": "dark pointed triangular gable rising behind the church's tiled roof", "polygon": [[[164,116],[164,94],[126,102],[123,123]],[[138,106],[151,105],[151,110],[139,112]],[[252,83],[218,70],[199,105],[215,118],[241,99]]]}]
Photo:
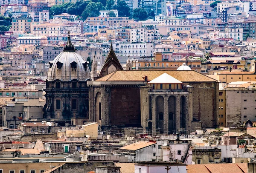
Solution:
[{"label": "dark pointed triangular gable rising behind the church's tiled roof", "polygon": [[123,68],[116,57],[111,43],[110,51],[108,52],[108,56],[102,65],[98,78],[102,78],[103,76],[106,76],[116,70],[123,70]]}]

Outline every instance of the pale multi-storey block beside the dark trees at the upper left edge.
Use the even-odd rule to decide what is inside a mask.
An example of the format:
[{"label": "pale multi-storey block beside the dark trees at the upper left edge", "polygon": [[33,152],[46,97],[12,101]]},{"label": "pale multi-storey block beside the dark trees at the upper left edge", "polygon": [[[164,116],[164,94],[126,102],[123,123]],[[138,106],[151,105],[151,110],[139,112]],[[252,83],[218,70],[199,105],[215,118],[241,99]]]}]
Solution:
[{"label": "pale multi-storey block beside the dark trees at the upper left edge", "polygon": [[30,33],[32,31],[33,19],[30,17],[21,17],[12,20],[10,31],[24,31]]}]

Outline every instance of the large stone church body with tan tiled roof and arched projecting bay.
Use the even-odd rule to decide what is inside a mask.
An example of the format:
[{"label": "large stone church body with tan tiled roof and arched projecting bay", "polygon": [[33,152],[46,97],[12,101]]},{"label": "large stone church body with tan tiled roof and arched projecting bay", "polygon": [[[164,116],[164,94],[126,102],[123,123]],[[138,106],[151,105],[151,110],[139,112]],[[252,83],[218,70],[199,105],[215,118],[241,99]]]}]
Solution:
[{"label": "large stone church body with tan tiled roof and arched projecting bay", "polygon": [[[164,73],[179,82],[178,88],[172,81],[151,84]],[[87,85],[90,121],[102,128],[143,127],[170,134],[217,127],[218,82],[192,70],[116,70]]]}]

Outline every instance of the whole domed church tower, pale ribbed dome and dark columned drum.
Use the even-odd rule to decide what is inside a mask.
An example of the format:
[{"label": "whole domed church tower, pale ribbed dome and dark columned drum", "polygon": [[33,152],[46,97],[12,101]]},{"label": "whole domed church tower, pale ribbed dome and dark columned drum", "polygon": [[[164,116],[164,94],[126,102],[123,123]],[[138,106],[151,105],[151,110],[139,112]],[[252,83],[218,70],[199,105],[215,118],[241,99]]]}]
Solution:
[{"label": "whole domed church tower, pale ribbed dome and dark columned drum", "polygon": [[[68,36],[67,45],[52,62],[46,81],[44,118],[60,125],[82,124],[89,117],[87,62],[75,52]],[[82,122],[79,122],[82,121]]]}]

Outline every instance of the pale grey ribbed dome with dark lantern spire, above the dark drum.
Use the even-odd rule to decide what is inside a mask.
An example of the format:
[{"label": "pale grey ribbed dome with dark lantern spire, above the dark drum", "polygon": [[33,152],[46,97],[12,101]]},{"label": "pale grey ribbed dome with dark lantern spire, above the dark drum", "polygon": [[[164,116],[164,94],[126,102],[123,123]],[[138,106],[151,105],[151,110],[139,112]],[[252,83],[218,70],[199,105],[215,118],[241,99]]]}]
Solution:
[{"label": "pale grey ribbed dome with dark lantern spire, above the dark drum", "polygon": [[86,81],[90,78],[90,70],[87,62],[75,52],[74,46],[68,35],[67,45],[53,61],[49,62],[50,68],[47,74],[48,81]]}]

